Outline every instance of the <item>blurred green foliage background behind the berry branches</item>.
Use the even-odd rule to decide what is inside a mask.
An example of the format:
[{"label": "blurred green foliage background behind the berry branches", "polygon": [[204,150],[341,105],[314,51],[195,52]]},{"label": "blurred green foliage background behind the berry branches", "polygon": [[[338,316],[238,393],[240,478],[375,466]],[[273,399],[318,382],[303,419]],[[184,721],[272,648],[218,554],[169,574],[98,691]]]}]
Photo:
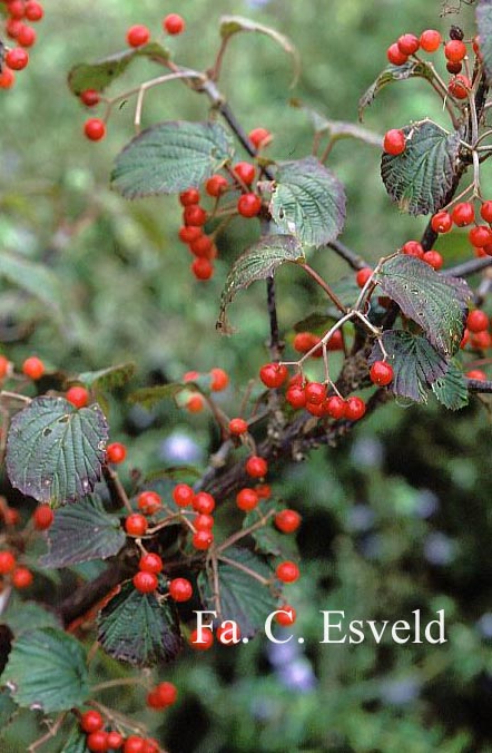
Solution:
[{"label": "blurred green foliage background behind the berry branches", "polygon": [[[456,0],[456,3],[457,0]],[[0,335],[16,363],[31,353],[77,373],[132,360],[135,385],[173,381],[184,371],[227,369],[233,387],[224,407],[237,407],[248,379],[266,358],[263,285],[238,296],[232,311],[239,334],[215,332],[218,297],[232,261],[255,237],[255,221],[233,224],[220,243],[214,278],[197,283],[177,243],[176,197],[125,203],[108,189],[116,154],[132,135],[132,105],[114,114],[108,137],[88,143],[89,111],[66,86],[76,62],[122,49],[129,25],[156,38],[164,14],[181,12],[187,31],[170,40],[176,59],[195,68],[211,62],[222,13],[240,13],[289,36],[303,72],[289,89],[291,61],[266,37],[237,37],[227,52],[222,88],[246,130],[275,135],[270,154],[299,158],[312,130],[301,98],[328,118],[355,121],[357,100],[385,66],[386,47],[402,32],[439,28],[441,2],[412,0],[195,0],[176,8],[150,0],[47,0],[31,65],[1,94],[0,242],[3,250],[47,264],[59,281],[57,311],[2,280]],[[473,33],[472,12],[459,22]],[[112,91],[152,75],[135,65]],[[128,84],[128,87],[127,87]],[[144,125],[207,116],[205,98],[179,82],[148,96]],[[366,127],[384,133],[433,117],[445,124],[431,87],[407,81],[386,89],[367,110]],[[377,149],[343,141],[329,167],[344,182],[348,219],[343,241],[375,261],[409,238],[424,219],[401,215],[378,177]],[[485,182],[486,185],[486,182]],[[456,239],[457,238],[457,239]],[[465,258],[459,235],[440,242],[446,264]],[[327,250],[313,265],[328,280],[347,273]],[[1,271],[0,271],[1,272]],[[321,305],[297,271],[278,275],[279,320],[293,325]],[[128,442],[125,467],[144,471],[180,461],[200,464],[217,437],[206,417],[164,405],[148,413],[111,403],[112,438]],[[478,401],[459,414],[386,405],[337,449],[321,449],[278,471],[274,489],[304,516],[298,536],[301,581],[289,587],[304,645],[283,651],[258,637],[237,651],[186,655],[161,678],[179,687],[156,734],[170,753],[426,753],[492,751],[492,517],[490,423]],[[351,618],[426,618],[444,608],[444,646],[319,645],[318,609]],[[109,665],[111,668],[112,665]],[[110,701],[110,696],[108,695]],[[141,706],[117,696],[125,711]],[[146,714],[156,727],[156,714]],[[160,725],[159,725],[160,724]],[[26,750],[32,732],[22,714],[6,737],[9,753]]]}]

